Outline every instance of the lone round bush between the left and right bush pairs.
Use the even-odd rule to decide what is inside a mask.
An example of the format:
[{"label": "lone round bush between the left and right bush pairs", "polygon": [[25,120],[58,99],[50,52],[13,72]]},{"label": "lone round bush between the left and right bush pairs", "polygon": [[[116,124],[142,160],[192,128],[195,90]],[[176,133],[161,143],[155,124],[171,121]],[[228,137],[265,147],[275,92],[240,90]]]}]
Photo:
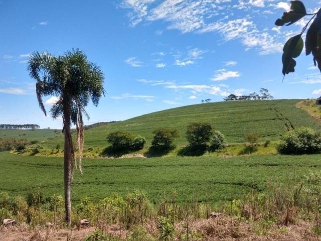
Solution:
[{"label": "lone round bush between the left and right bush pairs", "polygon": [[154,149],[166,150],[174,147],[174,139],[179,137],[176,129],[161,128],[153,131],[151,146]]}]

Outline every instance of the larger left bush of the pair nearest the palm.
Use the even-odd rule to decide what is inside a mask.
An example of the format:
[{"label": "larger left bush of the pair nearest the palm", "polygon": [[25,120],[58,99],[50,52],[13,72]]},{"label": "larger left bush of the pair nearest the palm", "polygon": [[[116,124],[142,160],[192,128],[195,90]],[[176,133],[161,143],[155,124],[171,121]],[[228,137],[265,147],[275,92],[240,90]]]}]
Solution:
[{"label": "larger left bush of the pair nearest the palm", "polygon": [[108,143],[115,151],[130,150],[134,137],[129,132],[116,131],[107,136]]}]

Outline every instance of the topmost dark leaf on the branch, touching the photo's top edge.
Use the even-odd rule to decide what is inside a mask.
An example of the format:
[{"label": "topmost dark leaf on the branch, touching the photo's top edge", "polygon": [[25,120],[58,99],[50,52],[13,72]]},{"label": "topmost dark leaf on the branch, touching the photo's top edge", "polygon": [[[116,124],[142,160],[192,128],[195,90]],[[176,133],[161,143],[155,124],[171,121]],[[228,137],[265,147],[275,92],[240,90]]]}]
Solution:
[{"label": "topmost dark leaf on the branch, touching the photo's top edge", "polygon": [[281,19],[275,21],[276,26],[289,26],[306,15],[304,4],[301,1],[291,1],[291,11],[283,13]]}]

